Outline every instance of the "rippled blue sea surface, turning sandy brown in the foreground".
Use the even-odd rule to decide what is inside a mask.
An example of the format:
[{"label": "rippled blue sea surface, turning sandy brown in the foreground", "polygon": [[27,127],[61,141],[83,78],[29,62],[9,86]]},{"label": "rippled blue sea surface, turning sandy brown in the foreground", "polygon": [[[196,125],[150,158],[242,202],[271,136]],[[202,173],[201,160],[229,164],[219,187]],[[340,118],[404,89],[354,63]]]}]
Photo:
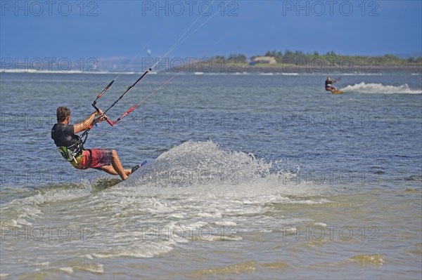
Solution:
[{"label": "rippled blue sea surface, turning sandy brown in the foreground", "polygon": [[331,74],[343,95],[326,75],[180,74],[90,131],[148,161],[120,182],[50,138],[58,106],[82,121],[115,74],[1,73],[0,278],[421,279],[422,74]]}]

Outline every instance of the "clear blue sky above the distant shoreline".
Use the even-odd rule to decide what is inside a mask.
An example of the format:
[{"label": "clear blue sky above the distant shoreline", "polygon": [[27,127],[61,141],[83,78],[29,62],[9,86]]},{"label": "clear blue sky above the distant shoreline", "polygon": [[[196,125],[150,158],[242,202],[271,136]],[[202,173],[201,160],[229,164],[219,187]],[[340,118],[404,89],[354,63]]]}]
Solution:
[{"label": "clear blue sky above the distant shoreline", "polygon": [[186,34],[199,29],[170,57],[249,57],[273,49],[345,55],[422,50],[422,1],[0,3],[1,58],[130,58],[146,55],[146,49],[164,55],[193,22]]}]

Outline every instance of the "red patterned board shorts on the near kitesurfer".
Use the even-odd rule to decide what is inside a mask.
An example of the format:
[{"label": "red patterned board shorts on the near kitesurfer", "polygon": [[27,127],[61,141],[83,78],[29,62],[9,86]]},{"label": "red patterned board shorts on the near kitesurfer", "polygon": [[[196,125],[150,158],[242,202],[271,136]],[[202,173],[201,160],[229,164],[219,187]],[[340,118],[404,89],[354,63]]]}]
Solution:
[{"label": "red patterned board shorts on the near kitesurfer", "polygon": [[84,149],[77,157],[78,169],[100,168],[109,166],[113,159],[113,149]]}]

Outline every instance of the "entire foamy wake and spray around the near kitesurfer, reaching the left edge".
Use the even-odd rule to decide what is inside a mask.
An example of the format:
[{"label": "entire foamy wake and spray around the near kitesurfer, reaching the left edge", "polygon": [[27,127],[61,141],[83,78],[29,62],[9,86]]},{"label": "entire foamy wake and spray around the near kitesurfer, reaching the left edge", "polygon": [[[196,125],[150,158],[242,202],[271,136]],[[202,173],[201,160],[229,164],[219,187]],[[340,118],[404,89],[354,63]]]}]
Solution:
[{"label": "entire foamy wake and spray around the near kitesurfer, reaching the left edge", "polygon": [[[273,232],[307,222],[288,213],[266,215],[280,211],[283,204],[328,201],[319,196],[326,196],[328,186],[295,182],[295,173],[284,171],[283,162],[229,151],[212,141],[184,142],[128,180],[101,192],[89,193],[84,184],[46,187],[6,204],[6,212],[18,211],[25,219],[13,218],[13,224],[33,222],[37,226],[41,221],[47,226],[63,224],[75,230],[89,215],[89,220],[101,223],[92,224],[92,228],[100,229],[101,225],[104,229],[95,232],[95,248],[86,251],[84,242],[75,242],[70,250],[86,262],[97,258],[153,258],[169,253],[182,242],[241,240],[241,232]],[[169,180],[165,172],[170,172],[170,179],[176,176],[175,180]],[[187,180],[180,179],[183,174]],[[50,211],[52,204],[60,205],[60,214]],[[61,267],[71,273],[68,266]],[[72,269],[74,273],[80,269],[102,271],[95,265]]]}]

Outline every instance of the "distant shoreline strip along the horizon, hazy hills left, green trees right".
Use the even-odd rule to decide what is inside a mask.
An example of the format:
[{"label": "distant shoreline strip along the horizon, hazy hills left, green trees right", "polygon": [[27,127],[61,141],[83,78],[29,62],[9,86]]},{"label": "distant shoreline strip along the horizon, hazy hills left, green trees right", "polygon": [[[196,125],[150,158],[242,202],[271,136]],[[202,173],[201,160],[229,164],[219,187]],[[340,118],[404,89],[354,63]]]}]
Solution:
[{"label": "distant shoreline strip along the horizon, hazy hills left, green trees right", "polygon": [[[43,61],[1,60],[1,72],[143,72],[158,63],[156,72],[422,72],[422,57],[397,55],[340,55],[334,51],[325,54],[302,51],[267,51],[247,58],[241,53],[228,56],[215,55],[209,58],[98,58],[65,65],[43,64]],[[69,65],[72,67],[70,68]]]}]

